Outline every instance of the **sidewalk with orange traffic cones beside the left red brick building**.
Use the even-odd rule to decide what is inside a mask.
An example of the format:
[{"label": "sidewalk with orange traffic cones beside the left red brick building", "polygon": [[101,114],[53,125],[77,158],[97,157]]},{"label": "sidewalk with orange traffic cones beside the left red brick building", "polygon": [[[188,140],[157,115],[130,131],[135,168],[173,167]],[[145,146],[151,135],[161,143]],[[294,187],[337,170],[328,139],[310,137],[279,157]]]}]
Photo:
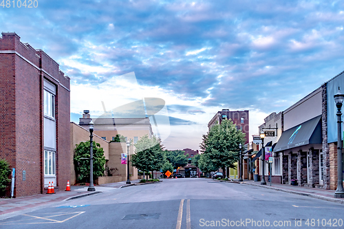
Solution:
[{"label": "sidewalk with orange traffic cones beside the left red brick building", "polygon": [[[131,184],[140,182],[139,179],[131,181]],[[129,184],[130,185],[130,184]],[[128,186],[125,182],[116,182],[110,184],[101,184],[95,186],[95,192],[88,192],[88,186],[70,186],[71,191],[65,190],[55,191],[55,194],[37,194],[29,197],[19,197],[13,199],[0,199],[0,220],[7,219],[14,215],[21,215],[25,212],[30,212],[32,208],[40,208],[43,206],[49,206],[56,204],[58,201],[67,201],[69,199],[76,199],[80,197],[86,197],[87,195],[94,195],[107,191],[114,190],[115,188],[121,188],[122,186]]]}]

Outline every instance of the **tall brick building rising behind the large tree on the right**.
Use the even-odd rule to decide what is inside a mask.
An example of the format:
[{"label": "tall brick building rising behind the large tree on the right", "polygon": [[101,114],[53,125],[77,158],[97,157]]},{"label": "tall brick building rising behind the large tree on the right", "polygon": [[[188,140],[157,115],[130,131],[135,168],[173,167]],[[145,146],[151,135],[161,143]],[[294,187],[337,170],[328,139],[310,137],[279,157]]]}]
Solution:
[{"label": "tall brick building rising behind the large tree on the right", "polygon": [[208,128],[210,129],[214,124],[221,124],[224,119],[231,119],[235,127],[246,134],[245,144],[247,144],[248,134],[250,132],[248,111],[229,111],[229,109],[222,109],[222,111],[215,113],[215,116],[208,123]]}]

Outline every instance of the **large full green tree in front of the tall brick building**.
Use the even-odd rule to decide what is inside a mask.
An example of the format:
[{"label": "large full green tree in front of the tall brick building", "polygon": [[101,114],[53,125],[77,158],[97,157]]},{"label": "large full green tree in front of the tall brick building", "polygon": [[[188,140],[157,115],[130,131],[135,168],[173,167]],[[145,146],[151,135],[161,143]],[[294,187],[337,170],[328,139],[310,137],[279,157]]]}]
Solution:
[{"label": "large full green tree in front of the tall brick building", "polygon": [[235,162],[239,160],[239,143],[244,145],[244,142],[245,133],[237,130],[232,120],[222,120],[221,124],[213,125],[210,131],[203,135],[200,144],[204,153],[202,166],[206,166],[203,163],[208,163],[206,168],[215,170],[224,170],[225,166],[235,168]]}]

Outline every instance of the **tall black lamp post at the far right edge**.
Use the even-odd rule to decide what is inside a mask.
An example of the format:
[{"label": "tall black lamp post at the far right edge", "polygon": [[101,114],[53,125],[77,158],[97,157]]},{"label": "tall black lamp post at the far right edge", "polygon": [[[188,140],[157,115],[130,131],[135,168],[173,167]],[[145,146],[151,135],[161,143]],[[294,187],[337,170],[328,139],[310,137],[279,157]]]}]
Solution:
[{"label": "tall black lamp post at the far right edge", "polygon": [[341,90],[338,87],[337,94],[334,95],[334,102],[336,102],[337,107],[337,131],[338,131],[338,138],[337,138],[337,189],[334,193],[334,198],[344,198],[344,188],[343,188],[343,155],[342,155],[342,136],[341,136],[341,107],[343,105],[344,94],[341,94]]}]

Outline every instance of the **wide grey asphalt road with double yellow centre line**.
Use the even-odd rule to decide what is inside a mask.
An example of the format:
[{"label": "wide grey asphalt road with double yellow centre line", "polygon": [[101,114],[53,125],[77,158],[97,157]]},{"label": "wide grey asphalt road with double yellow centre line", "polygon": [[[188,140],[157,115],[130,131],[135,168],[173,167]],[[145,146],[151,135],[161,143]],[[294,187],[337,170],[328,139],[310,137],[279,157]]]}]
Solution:
[{"label": "wide grey asphalt road with double yellow centre line", "polygon": [[341,204],[211,179],[165,179],[62,201],[0,228],[344,228]]}]

